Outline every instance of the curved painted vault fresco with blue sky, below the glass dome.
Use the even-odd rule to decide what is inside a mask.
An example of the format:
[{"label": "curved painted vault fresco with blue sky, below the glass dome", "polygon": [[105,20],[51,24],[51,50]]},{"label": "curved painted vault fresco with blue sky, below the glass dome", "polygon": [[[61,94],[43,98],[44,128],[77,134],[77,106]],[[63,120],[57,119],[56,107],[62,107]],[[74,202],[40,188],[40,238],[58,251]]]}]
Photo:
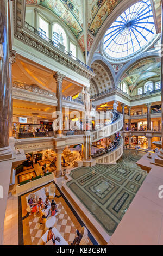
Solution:
[{"label": "curved painted vault fresco with blue sky, below the glass dome", "polygon": [[152,58],[137,63],[130,68],[122,77],[122,81],[127,82],[131,90],[141,82],[153,77],[160,77],[161,63],[160,60]]}]

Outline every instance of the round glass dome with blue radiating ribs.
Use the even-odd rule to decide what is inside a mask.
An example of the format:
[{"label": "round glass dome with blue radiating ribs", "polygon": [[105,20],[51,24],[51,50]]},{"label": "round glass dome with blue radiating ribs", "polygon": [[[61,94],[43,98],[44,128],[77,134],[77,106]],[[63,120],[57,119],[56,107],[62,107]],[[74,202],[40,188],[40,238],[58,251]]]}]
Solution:
[{"label": "round glass dome with blue radiating ribs", "polygon": [[111,58],[124,58],[142,49],[156,35],[150,0],[122,13],[104,36],[104,49]]}]

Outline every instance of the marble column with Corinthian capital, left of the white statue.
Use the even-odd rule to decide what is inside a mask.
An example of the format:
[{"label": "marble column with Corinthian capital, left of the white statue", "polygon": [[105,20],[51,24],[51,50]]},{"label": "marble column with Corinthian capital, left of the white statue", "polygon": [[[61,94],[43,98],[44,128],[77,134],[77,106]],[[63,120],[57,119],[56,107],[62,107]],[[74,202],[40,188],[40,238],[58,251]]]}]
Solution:
[{"label": "marble column with Corinthian capital, left of the white statue", "polygon": [[58,112],[57,118],[59,118],[57,126],[59,129],[56,131],[56,136],[62,136],[62,81],[65,78],[65,75],[60,74],[58,71],[53,76],[56,81],[56,97],[57,97],[57,107],[56,111]]}]

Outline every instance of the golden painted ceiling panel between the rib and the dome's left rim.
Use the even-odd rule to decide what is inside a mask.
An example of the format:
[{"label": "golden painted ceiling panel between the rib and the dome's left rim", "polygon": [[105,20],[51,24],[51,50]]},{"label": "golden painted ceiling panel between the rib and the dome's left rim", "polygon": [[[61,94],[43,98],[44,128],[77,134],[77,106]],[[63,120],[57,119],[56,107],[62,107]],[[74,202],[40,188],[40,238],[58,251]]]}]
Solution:
[{"label": "golden painted ceiling panel between the rib and the dome's left rim", "polygon": [[122,0],[88,0],[89,31],[96,36],[103,22]]}]

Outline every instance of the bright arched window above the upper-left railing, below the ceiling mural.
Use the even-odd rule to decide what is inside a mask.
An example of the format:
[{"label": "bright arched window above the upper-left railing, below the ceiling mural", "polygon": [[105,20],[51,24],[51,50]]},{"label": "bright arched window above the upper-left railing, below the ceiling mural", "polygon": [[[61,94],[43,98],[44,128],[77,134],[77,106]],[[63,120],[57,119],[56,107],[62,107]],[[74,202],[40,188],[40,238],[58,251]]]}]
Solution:
[{"label": "bright arched window above the upper-left railing, below the ceiling mural", "polygon": [[54,41],[55,46],[57,46],[58,43],[60,42],[60,44],[64,45],[65,48],[67,48],[66,33],[65,33],[64,29],[57,23],[55,23],[53,25],[53,41]]}]

